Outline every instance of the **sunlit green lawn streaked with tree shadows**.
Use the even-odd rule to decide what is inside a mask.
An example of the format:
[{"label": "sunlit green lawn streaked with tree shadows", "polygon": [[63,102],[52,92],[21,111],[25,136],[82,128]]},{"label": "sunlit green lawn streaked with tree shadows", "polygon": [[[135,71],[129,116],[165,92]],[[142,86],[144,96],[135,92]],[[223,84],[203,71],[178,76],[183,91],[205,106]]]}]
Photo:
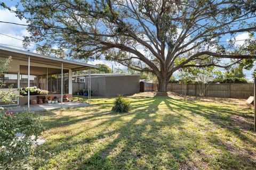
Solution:
[{"label": "sunlit green lawn streaked with tree shadows", "polygon": [[39,154],[36,166],[256,169],[253,107],[244,100],[152,95],[127,97],[134,109],[124,114],[111,111],[114,98],[39,113],[46,142],[37,150],[51,155]]}]

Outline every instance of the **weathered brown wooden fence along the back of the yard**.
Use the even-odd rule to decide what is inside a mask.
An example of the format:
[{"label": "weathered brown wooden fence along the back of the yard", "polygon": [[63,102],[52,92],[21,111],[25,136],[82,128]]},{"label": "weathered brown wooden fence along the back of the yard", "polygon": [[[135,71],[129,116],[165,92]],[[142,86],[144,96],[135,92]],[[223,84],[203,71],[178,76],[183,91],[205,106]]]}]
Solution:
[{"label": "weathered brown wooden fence along the back of the yard", "polygon": [[[144,91],[156,91],[156,83],[144,83]],[[183,86],[183,87],[182,87]],[[205,84],[207,87],[207,84]],[[182,90],[183,89],[183,90]],[[178,83],[169,83],[167,91],[189,96],[199,96],[199,84],[182,85]],[[205,96],[209,97],[226,97],[226,98],[248,98],[253,96],[253,84],[226,83],[226,84],[209,84],[206,88]]]}]

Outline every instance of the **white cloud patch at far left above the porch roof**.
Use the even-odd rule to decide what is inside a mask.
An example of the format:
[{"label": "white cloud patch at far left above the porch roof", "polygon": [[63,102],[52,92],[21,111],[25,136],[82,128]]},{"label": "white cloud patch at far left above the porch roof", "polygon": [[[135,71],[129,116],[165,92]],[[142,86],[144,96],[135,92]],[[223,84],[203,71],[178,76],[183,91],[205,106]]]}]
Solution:
[{"label": "white cloud patch at far left above the porch roof", "polygon": [[[15,10],[15,7],[11,7],[12,10]],[[6,22],[14,22],[19,24],[27,24],[25,19],[20,20],[17,16],[15,16],[15,13],[11,13],[9,10],[5,8],[0,8],[0,21],[6,21]],[[25,26],[21,25],[15,25],[15,24],[9,24],[9,23],[0,23],[0,33],[3,33],[7,36],[15,37],[18,39],[23,39],[23,36],[29,36],[29,32],[26,30]],[[18,48],[22,47],[22,41],[7,37],[4,35],[0,35],[0,45],[9,45],[9,47],[12,48]],[[33,48],[34,45],[29,46],[28,48]],[[22,49],[22,48],[18,48]]]}]

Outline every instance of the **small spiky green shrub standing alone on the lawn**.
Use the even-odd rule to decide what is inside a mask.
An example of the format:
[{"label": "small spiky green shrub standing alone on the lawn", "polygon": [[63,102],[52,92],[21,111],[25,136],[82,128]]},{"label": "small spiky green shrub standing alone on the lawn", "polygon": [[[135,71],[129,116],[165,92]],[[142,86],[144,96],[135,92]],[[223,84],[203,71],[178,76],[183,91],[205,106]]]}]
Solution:
[{"label": "small spiky green shrub standing alone on the lawn", "polygon": [[115,99],[113,111],[119,113],[126,113],[132,109],[131,103],[128,99],[125,99],[122,95],[118,95]]}]

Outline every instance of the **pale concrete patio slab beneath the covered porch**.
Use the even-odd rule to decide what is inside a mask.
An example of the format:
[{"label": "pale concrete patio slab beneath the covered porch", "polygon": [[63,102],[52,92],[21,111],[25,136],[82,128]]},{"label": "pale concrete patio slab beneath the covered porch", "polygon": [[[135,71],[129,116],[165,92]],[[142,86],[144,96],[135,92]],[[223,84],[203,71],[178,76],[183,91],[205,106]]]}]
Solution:
[{"label": "pale concrete patio slab beneath the covered porch", "polygon": [[[63,103],[62,107],[67,108],[67,107],[83,107],[83,106],[88,106],[89,104],[87,103],[81,103],[78,101],[71,101],[67,103]],[[61,103],[58,104],[36,104],[36,105],[30,105],[30,111],[50,111],[53,109],[60,109],[61,108]],[[27,111],[28,106],[17,106],[17,107],[12,107],[10,108],[9,112],[22,112],[22,111]]]}]

